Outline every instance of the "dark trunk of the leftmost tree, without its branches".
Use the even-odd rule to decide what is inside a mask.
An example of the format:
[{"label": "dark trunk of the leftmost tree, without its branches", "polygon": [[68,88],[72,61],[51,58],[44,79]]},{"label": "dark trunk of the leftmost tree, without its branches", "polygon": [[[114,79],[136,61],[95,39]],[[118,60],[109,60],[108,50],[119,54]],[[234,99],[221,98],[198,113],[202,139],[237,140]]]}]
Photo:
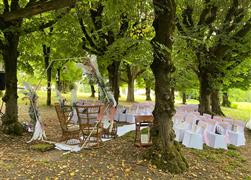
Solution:
[{"label": "dark trunk of the leftmost tree, without its branches", "polygon": [[17,106],[17,57],[19,34],[4,33],[6,47],[3,50],[3,59],[6,73],[6,91],[3,101],[6,103],[5,114],[2,117],[3,131],[7,134],[22,134],[22,125],[18,122]]}]

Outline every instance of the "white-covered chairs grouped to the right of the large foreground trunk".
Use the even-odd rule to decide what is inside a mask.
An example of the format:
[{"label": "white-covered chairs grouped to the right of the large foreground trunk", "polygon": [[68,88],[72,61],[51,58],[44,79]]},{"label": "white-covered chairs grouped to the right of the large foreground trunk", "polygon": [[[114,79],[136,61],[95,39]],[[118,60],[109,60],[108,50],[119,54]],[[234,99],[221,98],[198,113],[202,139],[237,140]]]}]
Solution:
[{"label": "white-covered chairs grouped to the right of the large foreground trunk", "polygon": [[228,144],[245,145],[242,121],[199,116],[196,113],[174,116],[175,140],[186,147],[203,149],[203,144],[213,148],[227,149]]}]

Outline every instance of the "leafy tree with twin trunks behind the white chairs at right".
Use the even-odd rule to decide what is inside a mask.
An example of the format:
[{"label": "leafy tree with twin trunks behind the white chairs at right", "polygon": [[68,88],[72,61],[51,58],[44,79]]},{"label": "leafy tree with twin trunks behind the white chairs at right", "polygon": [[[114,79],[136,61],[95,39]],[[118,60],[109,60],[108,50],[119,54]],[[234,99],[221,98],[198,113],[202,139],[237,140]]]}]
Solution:
[{"label": "leafy tree with twin trunks behind the white chairs at right", "polygon": [[242,61],[235,58],[236,55],[244,57],[250,53],[250,38],[247,38],[251,29],[249,6],[249,1],[238,0],[181,3],[177,27],[196,54],[200,113],[223,115],[219,92],[226,72]]}]

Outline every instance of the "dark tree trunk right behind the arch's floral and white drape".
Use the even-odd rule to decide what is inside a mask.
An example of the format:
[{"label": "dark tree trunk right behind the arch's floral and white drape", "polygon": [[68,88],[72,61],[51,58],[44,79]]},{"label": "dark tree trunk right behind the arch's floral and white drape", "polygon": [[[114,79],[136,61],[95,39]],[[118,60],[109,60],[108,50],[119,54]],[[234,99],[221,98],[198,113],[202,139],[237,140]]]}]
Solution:
[{"label": "dark tree trunk right behind the arch's floral and white drape", "polygon": [[119,65],[120,61],[113,61],[113,63],[107,67],[109,83],[117,103],[119,100]]}]

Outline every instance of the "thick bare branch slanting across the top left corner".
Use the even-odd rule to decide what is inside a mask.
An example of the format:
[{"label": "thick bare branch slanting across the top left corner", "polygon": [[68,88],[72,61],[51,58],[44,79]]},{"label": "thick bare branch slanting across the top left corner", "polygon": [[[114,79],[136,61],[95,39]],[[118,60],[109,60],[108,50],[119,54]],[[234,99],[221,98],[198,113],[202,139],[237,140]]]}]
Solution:
[{"label": "thick bare branch slanting across the top left corner", "polygon": [[48,2],[39,1],[28,7],[12,10],[11,12],[0,15],[5,22],[15,21],[20,18],[31,17],[43,12],[56,10],[64,7],[73,7],[76,0],[51,0]]}]

